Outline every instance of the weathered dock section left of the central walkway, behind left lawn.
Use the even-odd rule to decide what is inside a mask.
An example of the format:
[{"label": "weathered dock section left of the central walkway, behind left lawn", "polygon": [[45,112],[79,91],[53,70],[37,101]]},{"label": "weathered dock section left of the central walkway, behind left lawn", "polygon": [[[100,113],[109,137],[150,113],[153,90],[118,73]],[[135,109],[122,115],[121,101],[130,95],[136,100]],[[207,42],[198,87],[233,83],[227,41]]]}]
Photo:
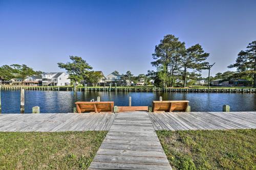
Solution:
[{"label": "weathered dock section left of the central walkway, behind left lawn", "polygon": [[115,117],[114,113],[0,114],[0,131],[108,131]]}]

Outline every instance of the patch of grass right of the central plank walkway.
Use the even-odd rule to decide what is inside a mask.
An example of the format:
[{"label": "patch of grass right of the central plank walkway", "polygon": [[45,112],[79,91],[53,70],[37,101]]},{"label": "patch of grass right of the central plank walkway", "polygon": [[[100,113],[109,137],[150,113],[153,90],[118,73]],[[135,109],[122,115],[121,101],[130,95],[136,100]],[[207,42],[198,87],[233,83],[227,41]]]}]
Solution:
[{"label": "patch of grass right of the central plank walkway", "polygon": [[256,129],[157,131],[173,169],[256,169]]}]

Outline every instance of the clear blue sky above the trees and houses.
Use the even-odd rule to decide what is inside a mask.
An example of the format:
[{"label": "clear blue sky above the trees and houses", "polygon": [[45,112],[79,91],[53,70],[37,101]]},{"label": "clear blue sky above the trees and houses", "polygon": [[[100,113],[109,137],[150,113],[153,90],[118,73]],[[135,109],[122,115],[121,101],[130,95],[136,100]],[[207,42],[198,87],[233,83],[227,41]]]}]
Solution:
[{"label": "clear blue sky above the trees and houses", "polygon": [[[146,74],[155,45],[174,34],[199,43],[216,62],[212,76],[229,70],[256,40],[256,1],[3,1],[0,65],[27,64],[61,71],[57,62],[80,56],[94,70]],[[207,75],[207,71],[203,71]]]}]

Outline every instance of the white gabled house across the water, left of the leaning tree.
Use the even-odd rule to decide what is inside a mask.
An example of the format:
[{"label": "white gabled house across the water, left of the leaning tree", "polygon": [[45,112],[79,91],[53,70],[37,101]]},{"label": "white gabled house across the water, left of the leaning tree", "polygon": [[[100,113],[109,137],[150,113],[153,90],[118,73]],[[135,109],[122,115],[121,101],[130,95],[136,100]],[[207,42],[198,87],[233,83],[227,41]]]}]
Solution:
[{"label": "white gabled house across the water, left of the leaning tree", "polygon": [[70,85],[69,75],[65,72],[44,72],[42,86],[67,86]]}]

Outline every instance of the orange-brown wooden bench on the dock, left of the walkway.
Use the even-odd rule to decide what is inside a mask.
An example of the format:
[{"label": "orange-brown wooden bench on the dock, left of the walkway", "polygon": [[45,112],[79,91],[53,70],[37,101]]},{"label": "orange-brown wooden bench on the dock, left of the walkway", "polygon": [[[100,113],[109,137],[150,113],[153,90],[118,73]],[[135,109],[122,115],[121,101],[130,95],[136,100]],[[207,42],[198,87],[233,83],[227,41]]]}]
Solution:
[{"label": "orange-brown wooden bench on the dock, left of the walkway", "polygon": [[112,112],[114,102],[76,102],[78,113],[82,112]]}]

